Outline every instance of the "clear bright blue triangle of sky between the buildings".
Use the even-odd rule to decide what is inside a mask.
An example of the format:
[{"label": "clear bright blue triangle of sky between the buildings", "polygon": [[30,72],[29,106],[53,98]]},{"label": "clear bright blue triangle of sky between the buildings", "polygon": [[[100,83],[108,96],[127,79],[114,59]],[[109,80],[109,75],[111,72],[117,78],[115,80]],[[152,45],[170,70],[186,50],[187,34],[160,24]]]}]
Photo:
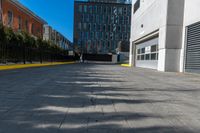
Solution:
[{"label": "clear bright blue triangle of sky between the buildings", "polygon": [[74,0],[19,1],[70,41],[73,41]]}]

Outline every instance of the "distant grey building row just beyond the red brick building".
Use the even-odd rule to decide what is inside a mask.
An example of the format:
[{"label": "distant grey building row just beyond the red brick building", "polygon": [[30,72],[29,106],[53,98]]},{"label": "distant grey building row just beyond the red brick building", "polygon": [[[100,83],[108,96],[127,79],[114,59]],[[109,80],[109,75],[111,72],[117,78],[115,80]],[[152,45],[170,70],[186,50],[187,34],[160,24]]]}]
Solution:
[{"label": "distant grey building row just beyond the red brick building", "polygon": [[62,49],[72,50],[71,41],[49,25],[44,25],[43,39],[58,45]]}]

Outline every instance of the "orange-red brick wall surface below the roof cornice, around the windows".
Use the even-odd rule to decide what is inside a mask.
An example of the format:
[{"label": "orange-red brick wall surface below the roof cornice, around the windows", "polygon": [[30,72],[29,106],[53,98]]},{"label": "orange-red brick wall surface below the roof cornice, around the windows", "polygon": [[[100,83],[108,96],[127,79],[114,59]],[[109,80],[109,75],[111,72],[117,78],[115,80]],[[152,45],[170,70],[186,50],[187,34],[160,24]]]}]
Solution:
[{"label": "orange-red brick wall surface below the roof cornice, around the windows", "polygon": [[28,33],[42,37],[43,35],[43,22],[32,16],[28,11],[21,9],[18,5],[13,4],[10,0],[2,1],[3,11],[3,24],[8,26],[8,12],[12,12],[12,29],[18,31],[19,29],[19,18],[21,19],[21,30],[27,31]]}]

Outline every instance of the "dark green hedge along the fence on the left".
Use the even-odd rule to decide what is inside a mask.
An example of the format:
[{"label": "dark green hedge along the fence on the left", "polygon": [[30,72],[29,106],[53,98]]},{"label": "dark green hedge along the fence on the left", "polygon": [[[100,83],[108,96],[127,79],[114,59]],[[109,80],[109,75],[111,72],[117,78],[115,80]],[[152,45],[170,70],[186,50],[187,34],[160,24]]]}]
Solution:
[{"label": "dark green hedge along the fence on the left", "polygon": [[14,32],[0,24],[0,63],[65,61],[68,52],[26,32]]}]

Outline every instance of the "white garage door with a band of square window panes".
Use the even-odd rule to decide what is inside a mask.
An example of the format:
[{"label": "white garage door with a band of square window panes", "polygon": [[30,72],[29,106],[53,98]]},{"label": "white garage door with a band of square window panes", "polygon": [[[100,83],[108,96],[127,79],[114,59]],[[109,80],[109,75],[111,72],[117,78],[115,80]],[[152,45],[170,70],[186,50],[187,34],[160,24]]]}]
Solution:
[{"label": "white garage door with a band of square window panes", "polygon": [[136,45],[136,67],[158,68],[158,38]]}]

